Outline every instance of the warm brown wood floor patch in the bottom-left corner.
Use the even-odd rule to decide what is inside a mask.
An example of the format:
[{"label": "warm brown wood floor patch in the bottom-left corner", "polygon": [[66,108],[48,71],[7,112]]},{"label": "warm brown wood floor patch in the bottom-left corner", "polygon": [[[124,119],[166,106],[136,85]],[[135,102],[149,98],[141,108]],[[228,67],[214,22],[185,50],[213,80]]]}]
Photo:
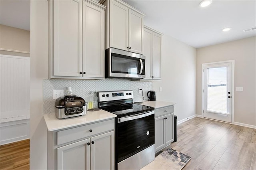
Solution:
[{"label": "warm brown wood floor patch in the bottom-left corner", "polygon": [[0,170],[29,170],[29,139],[0,146]]}]

